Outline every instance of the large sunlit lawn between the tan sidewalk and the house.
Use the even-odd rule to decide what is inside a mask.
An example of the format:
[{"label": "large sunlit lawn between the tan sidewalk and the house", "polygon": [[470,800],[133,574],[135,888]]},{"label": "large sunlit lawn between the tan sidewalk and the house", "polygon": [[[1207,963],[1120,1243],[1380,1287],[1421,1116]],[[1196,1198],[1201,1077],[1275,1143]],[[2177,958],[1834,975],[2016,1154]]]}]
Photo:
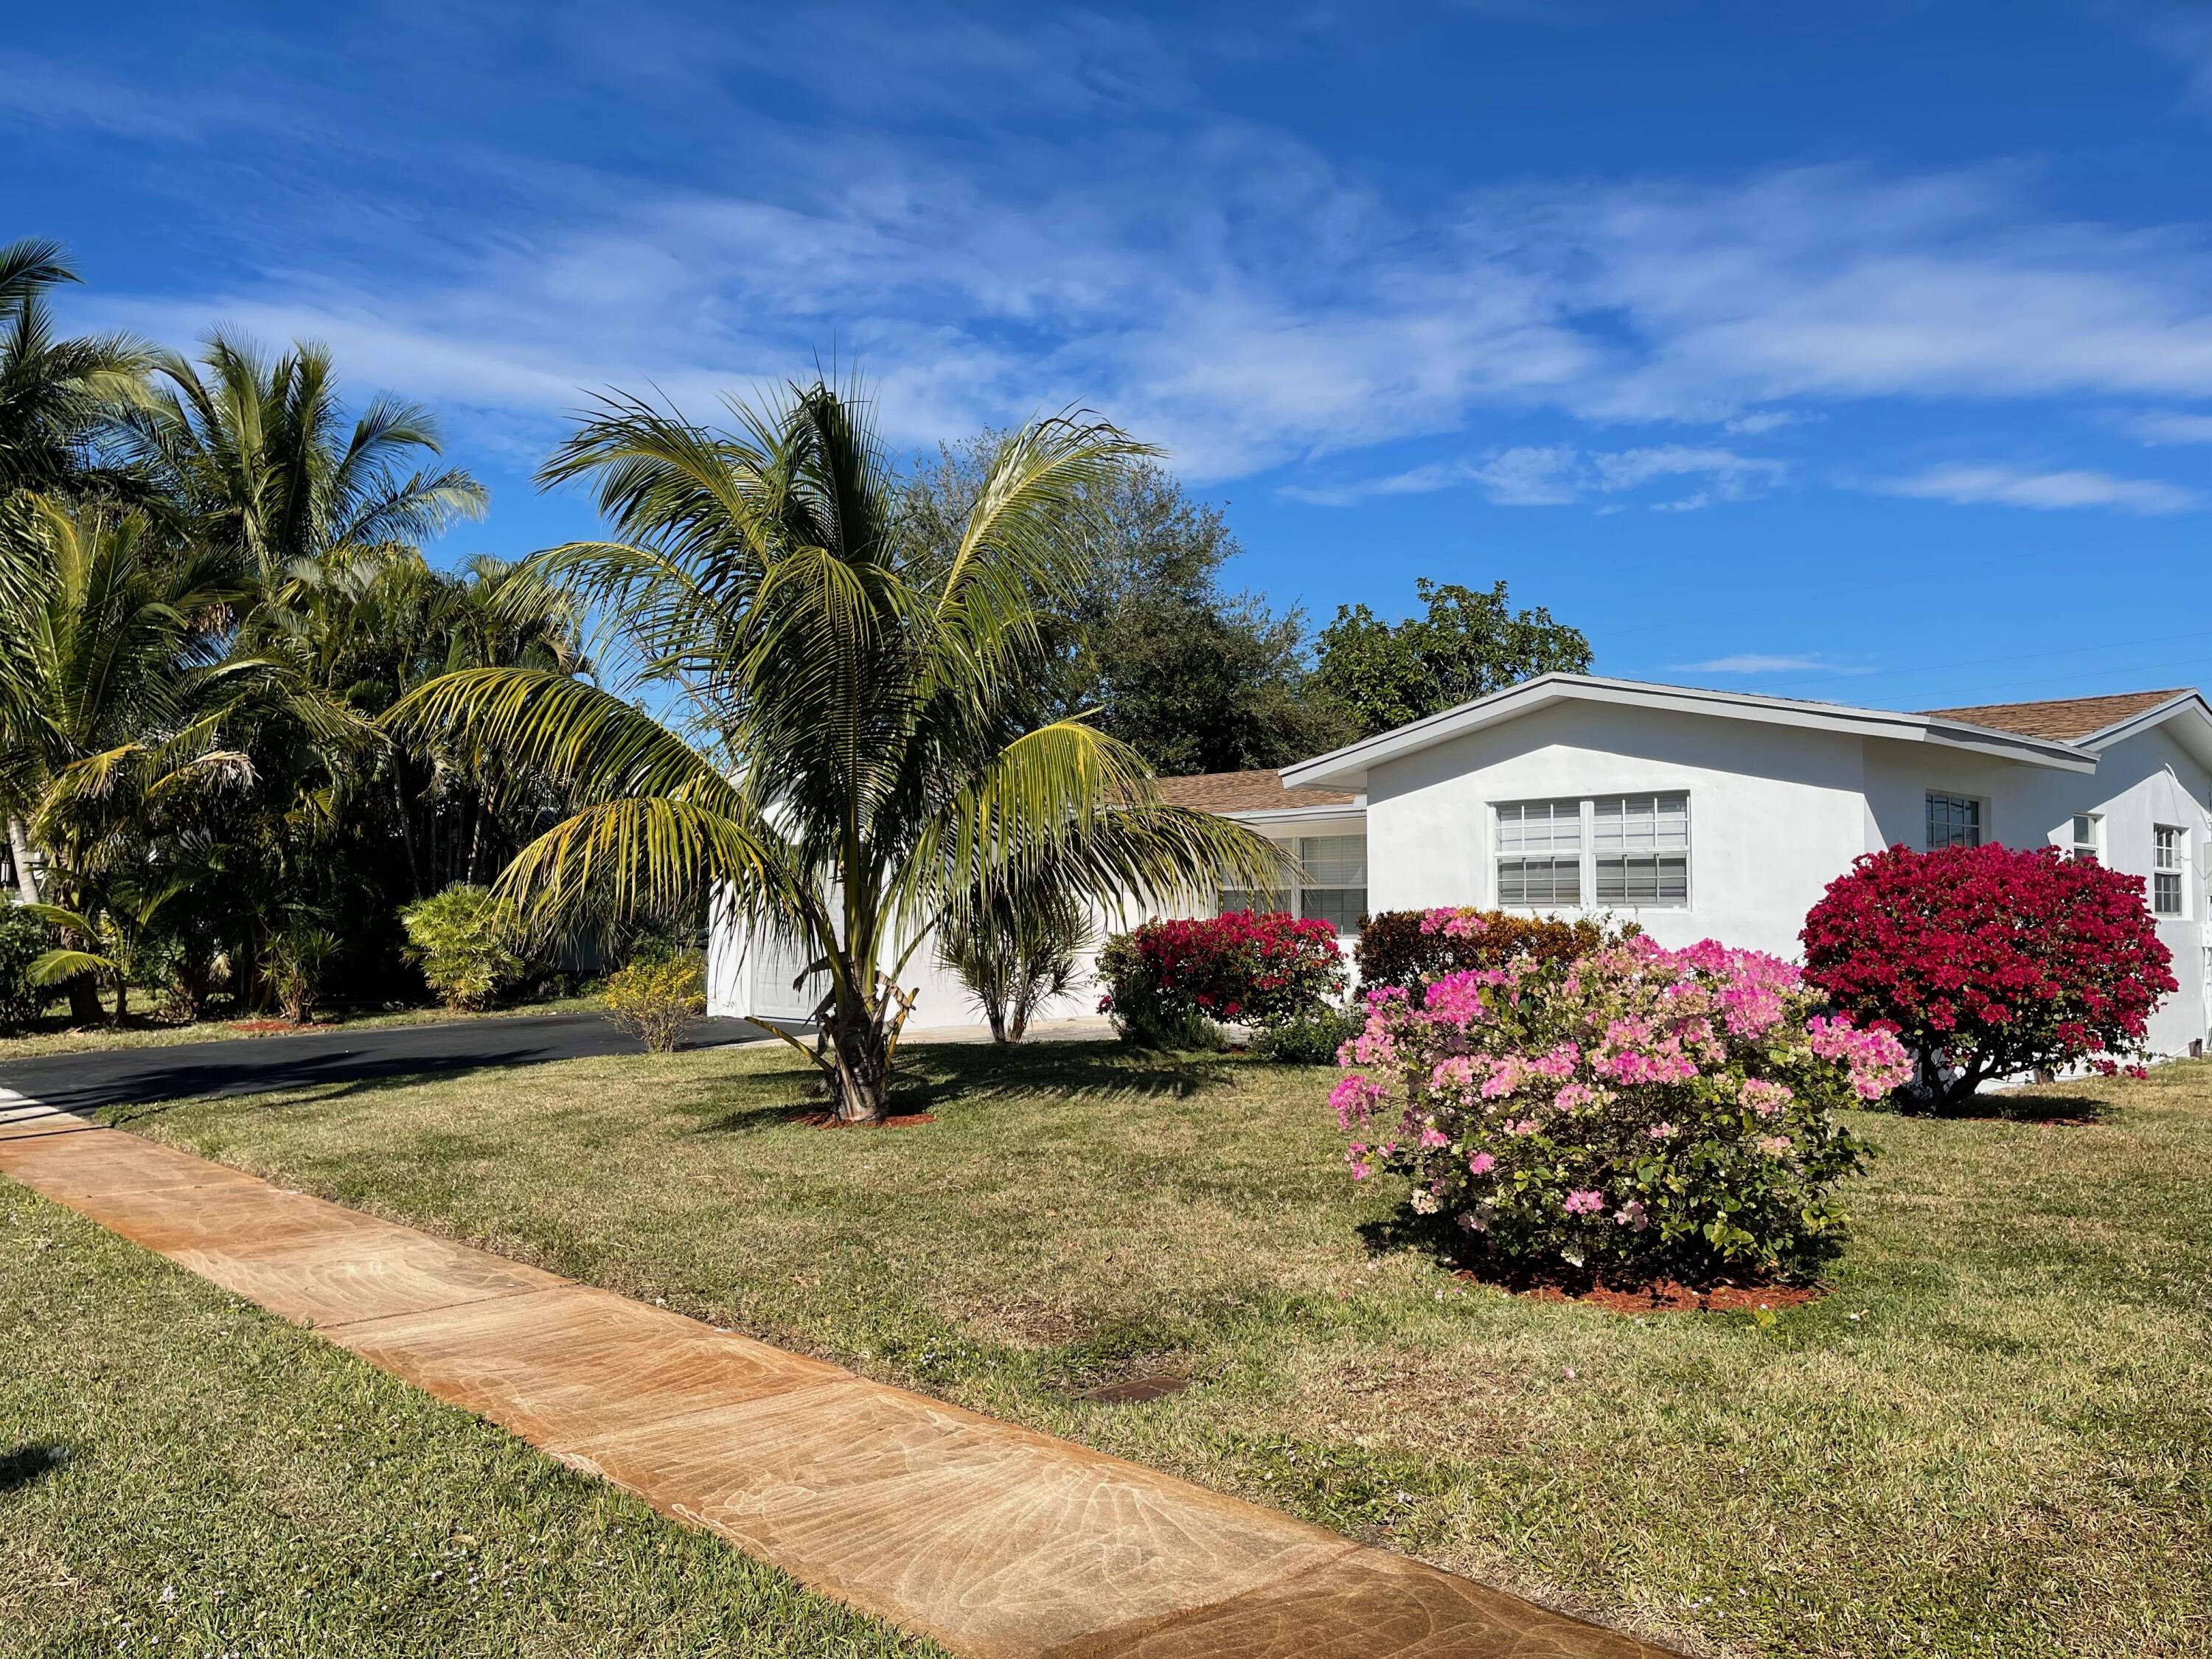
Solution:
[{"label": "large sunlit lawn between the tan sidewalk and the house", "polygon": [[2086,1126],[1863,1117],[1834,1294],[1761,1321],[1374,1243],[1327,1073],[911,1060],[936,1121],[874,1133],[787,1121],[768,1046],[117,1117],[1692,1652],[2212,1650],[2212,1064]]}]

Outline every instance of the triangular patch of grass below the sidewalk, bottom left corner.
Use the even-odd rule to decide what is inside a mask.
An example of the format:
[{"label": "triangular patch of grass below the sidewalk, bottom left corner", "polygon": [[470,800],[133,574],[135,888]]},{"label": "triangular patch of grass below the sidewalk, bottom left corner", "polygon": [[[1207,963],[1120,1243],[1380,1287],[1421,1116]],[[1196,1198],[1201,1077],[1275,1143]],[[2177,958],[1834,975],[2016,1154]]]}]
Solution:
[{"label": "triangular patch of grass below the sidewalk, bottom left corner", "polygon": [[0,1183],[0,1652],[942,1650]]}]

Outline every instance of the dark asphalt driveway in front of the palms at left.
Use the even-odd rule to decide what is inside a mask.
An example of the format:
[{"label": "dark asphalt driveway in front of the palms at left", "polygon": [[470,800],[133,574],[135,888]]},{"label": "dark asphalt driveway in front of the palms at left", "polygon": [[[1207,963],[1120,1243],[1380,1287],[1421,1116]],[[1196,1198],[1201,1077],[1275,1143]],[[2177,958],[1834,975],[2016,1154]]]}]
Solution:
[{"label": "dark asphalt driveway in front of the palms at left", "polygon": [[[686,1048],[759,1042],[745,1020],[701,1020]],[[522,1013],[507,1020],[445,1020],[369,1031],[303,1031],[279,1037],[184,1042],[173,1048],[108,1048],[38,1060],[0,1060],[0,1088],[64,1113],[144,1106],[201,1095],[261,1095],[272,1088],[425,1077],[482,1066],[641,1053],[602,1013]]]}]

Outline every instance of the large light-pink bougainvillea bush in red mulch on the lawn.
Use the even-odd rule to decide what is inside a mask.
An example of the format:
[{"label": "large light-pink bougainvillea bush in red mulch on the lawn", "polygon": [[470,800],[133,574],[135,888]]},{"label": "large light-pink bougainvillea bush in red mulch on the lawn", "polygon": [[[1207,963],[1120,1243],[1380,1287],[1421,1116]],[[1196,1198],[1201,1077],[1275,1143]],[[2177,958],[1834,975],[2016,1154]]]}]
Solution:
[{"label": "large light-pink bougainvillea bush in red mulch on the lawn", "polygon": [[1332,1104],[1354,1179],[1411,1181],[1462,1254],[1531,1274],[1809,1274],[1863,1164],[1836,1108],[1909,1073],[1790,962],[1648,938],[1367,1000]]}]

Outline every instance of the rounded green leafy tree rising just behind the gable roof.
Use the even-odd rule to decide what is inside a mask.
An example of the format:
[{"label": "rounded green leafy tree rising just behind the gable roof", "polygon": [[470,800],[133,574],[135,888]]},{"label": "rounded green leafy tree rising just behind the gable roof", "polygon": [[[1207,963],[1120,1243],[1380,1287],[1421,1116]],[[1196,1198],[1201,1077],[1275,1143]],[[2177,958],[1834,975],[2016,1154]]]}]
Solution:
[{"label": "rounded green leafy tree rising just behind the gable roof", "polygon": [[1535,675],[1584,675],[1590,641],[1551,611],[1511,611],[1506,584],[1486,593],[1416,582],[1425,617],[1383,622],[1365,604],[1336,608],[1321,630],[1314,688],[1374,737]]}]

